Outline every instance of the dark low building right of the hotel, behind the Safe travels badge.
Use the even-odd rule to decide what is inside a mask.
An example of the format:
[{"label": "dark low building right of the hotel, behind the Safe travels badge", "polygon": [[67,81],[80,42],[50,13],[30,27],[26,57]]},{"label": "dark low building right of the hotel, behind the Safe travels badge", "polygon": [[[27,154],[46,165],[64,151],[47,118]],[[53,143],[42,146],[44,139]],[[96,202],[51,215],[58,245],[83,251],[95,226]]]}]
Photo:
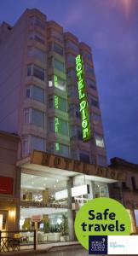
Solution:
[{"label": "dark low building right of the hotel, behind the Safe travels badge", "polygon": [[126,173],[125,182],[108,186],[109,195],[128,209],[135,233],[138,231],[138,165],[115,157],[111,159],[110,167]]}]

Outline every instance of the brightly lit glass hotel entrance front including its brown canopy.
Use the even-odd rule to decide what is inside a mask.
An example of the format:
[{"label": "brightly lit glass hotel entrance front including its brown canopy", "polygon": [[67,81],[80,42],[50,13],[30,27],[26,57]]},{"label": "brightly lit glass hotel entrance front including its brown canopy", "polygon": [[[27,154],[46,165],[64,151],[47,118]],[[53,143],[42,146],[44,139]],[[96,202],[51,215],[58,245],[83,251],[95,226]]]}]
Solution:
[{"label": "brightly lit glass hotel entrance front including its brown canopy", "polygon": [[[124,179],[123,174],[105,167],[38,151],[18,166],[20,230],[37,228],[39,243],[74,241],[79,208],[93,198],[109,197],[108,184]],[[28,231],[26,241],[32,239]]]}]

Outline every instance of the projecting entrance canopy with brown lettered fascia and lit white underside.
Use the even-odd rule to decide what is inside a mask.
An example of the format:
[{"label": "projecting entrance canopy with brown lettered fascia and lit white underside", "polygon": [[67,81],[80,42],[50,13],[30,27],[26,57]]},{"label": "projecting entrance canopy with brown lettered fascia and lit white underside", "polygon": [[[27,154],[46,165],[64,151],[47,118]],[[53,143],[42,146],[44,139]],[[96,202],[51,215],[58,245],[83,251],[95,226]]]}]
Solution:
[{"label": "projecting entrance canopy with brown lettered fascia and lit white underside", "polygon": [[34,150],[30,157],[19,160],[17,166],[32,170],[43,176],[43,173],[55,176],[73,177],[76,175],[89,176],[91,180],[105,183],[125,182],[126,174],[110,167],[95,166],[79,160],[72,160],[55,154]]}]

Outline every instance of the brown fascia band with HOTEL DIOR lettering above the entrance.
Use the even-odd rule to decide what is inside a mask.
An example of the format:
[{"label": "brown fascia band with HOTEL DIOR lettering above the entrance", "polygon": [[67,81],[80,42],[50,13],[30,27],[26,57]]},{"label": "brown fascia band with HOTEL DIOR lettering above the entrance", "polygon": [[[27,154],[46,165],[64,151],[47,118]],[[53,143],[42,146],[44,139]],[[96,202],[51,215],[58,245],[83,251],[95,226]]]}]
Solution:
[{"label": "brown fascia band with HOTEL DIOR lettering above the entrance", "polygon": [[63,169],[72,172],[79,172],[86,175],[93,175],[97,177],[106,177],[113,180],[119,180],[124,182],[126,174],[125,172],[119,172],[118,170],[111,169],[109,167],[95,166],[84,163],[78,160],[68,159],[55,154],[44,153],[34,150],[32,153],[31,164],[49,166],[58,169]]}]

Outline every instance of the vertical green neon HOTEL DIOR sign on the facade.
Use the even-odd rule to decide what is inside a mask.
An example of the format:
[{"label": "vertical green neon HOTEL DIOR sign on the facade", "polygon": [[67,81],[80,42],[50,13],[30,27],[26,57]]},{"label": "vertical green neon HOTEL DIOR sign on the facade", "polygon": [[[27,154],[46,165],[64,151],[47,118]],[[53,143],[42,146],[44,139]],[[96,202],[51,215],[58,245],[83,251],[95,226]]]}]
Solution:
[{"label": "vertical green neon HOTEL DIOR sign on the facade", "polygon": [[87,142],[90,139],[89,107],[83,72],[83,58],[81,55],[76,57],[76,73],[78,77],[78,97],[82,119],[83,142]]}]

